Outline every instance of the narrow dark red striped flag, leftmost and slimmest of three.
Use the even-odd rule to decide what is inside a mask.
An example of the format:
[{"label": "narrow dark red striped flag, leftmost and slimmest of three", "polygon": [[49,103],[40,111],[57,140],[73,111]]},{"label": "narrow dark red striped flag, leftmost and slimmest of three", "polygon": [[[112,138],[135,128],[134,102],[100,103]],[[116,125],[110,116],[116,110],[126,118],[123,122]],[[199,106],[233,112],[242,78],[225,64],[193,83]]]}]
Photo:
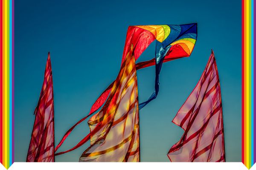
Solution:
[{"label": "narrow dark red striped flag, leftmost and slimmest of three", "polygon": [[35,122],[27,154],[27,162],[54,161],[54,107],[50,54],[44,72],[44,82],[35,108]]}]

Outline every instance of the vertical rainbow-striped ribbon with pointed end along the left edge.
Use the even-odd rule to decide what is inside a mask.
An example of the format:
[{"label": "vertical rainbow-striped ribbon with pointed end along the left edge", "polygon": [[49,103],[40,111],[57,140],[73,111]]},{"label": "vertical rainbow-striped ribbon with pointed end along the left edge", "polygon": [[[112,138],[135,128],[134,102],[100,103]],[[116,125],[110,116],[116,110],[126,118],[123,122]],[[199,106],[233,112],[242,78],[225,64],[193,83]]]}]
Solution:
[{"label": "vertical rainbow-striped ribbon with pointed end along the left edge", "polygon": [[0,0],[0,161],[14,162],[14,0]]}]

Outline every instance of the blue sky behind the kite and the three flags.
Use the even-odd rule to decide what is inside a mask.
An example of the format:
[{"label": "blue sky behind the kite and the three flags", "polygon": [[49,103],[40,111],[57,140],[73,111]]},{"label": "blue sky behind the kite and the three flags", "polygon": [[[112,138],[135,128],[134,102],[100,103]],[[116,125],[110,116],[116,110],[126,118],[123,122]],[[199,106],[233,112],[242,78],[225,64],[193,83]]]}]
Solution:
[{"label": "blue sky behind the kite and the three flags", "polygon": [[[241,161],[241,1],[233,0],[16,0],[15,1],[15,161],[26,161],[33,115],[50,51],[54,87],[55,144],[86,116],[116,79],[128,26],[198,23],[198,39],[188,58],[163,64],[157,99],[140,110],[141,161],[169,161],[167,153],[183,130],[172,123],[215,53],[221,83],[226,161]],[[154,57],[155,42],[137,62]],[[139,101],[154,91],[154,66],[137,71]],[[89,133],[87,120],[58,151]],[[55,157],[79,161],[89,142]]]}]

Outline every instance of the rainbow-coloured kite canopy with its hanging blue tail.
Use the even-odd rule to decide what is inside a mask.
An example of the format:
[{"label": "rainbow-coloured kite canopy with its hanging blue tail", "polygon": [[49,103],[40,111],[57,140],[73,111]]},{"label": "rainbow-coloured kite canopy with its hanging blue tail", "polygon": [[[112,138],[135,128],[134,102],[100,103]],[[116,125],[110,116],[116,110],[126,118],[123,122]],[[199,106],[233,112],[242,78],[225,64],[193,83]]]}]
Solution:
[{"label": "rainbow-coloured kite canopy with its hanging blue tail", "polygon": [[[130,38],[131,37],[131,38]],[[155,59],[145,64],[144,67],[156,65],[155,90],[149,99],[140,103],[139,109],[155,99],[159,91],[159,74],[163,62],[181,57],[189,57],[192,53],[197,38],[197,24],[185,25],[152,25],[152,26],[130,26],[127,31],[125,49],[122,57],[134,44],[135,60],[140,57],[148,45],[156,40]]]}]

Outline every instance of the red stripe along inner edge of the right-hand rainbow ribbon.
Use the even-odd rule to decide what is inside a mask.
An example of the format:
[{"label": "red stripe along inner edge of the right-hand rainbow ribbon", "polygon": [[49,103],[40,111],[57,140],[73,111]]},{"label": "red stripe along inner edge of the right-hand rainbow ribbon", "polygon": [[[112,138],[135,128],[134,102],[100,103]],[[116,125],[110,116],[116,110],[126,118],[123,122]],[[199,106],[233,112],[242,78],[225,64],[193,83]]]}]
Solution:
[{"label": "red stripe along inner edge of the right-hand rainbow ribbon", "polygon": [[242,0],[242,163],[244,164],[244,0]]}]

